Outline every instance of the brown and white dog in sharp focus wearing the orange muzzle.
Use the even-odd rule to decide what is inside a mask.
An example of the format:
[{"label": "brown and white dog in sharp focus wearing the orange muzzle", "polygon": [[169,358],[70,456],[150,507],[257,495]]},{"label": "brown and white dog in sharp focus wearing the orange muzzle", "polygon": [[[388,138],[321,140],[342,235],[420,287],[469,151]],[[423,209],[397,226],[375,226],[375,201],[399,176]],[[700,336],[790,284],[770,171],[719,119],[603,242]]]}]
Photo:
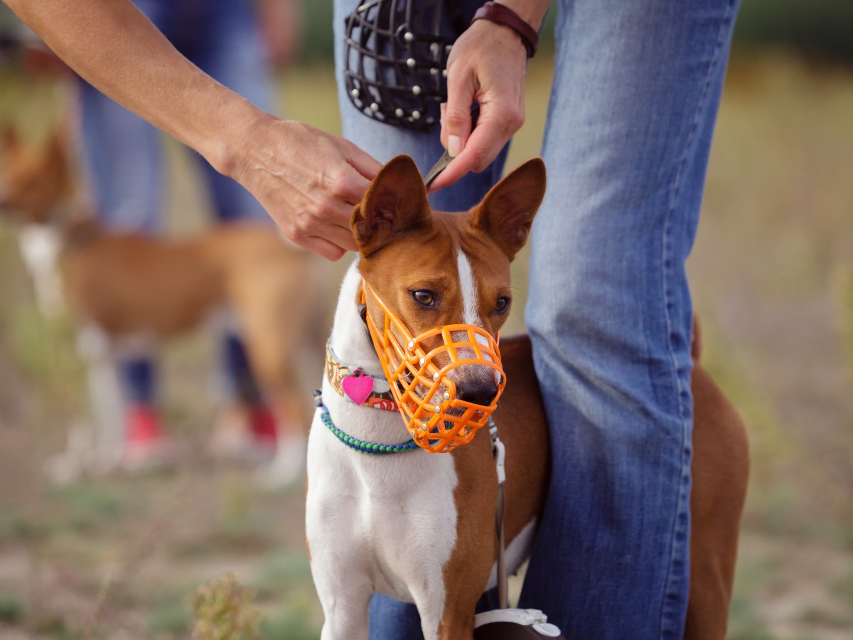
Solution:
[{"label": "brown and white dog in sharp focus wearing the orange muzzle", "polygon": [[[350,392],[341,394],[335,371],[360,369],[358,376],[379,386],[384,377],[359,309],[363,281],[413,335],[452,323],[496,335],[507,317],[509,264],[525,244],[544,189],[543,163],[531,160],[470,211],[432,212],[414,162],[400,156],[374,178],[352,214],[359,258],[341,287],[323,404],[308,445],[306,532],[326,618],[322,640],[367,638],[374,592],[414,602],[427,640],[473,637],[474,605],[496,583],[497,480],[488,434],[450,453],[354,451],[342,440],[393,448],[410,441],[409,433],[396,411],[373,408],[381,400],[356,403]],[[367,304],[381,325],[383,312]],[[527,336],[502,338],[501,357],[507,385],[494,418],[506,446],[504,527],[514,572],[528,555],[543,508],[548,432]],[[477,378],[458,375],[457,393]],[[746,492],[746,434],[698,362],[693,393],[686,637],[722,638]]]}]

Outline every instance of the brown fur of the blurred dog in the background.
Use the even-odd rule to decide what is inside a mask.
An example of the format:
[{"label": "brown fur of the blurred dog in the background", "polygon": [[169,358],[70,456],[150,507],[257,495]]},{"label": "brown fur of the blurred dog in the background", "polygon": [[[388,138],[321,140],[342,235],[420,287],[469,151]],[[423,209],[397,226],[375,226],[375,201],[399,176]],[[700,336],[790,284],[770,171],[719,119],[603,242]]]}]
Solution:
[{"label": "brown fur of the blurred dog in the background", "polygon": [[60,228],[60,271],[74,313],[112,338],[167,340],[227,305],[279,424],[307,429],[310,395],[296,357],[309,344],[320,358],[315,325],[325,312],[310,253],[288,246],[271,224],[228,224],[169,240],[107,232],[79,209],[55,219],[74,192],[65,137],[60,128],[44,147],[31,148],[14,130],[3,131],[0,211],[19,223]]}]

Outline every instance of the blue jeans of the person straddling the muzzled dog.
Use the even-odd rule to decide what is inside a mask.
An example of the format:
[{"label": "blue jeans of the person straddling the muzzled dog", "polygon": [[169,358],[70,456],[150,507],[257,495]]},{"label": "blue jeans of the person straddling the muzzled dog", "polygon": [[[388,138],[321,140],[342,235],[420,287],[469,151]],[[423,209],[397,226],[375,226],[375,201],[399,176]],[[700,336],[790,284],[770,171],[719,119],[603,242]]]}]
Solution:
[{"label": "blue jeans of the person straddling the muzzled dog", "polygon": [[[354,3],[335,4],[339,28]],[[519,606],[543,609],[567,638],[681,638],[693,410],[684,265],[739,0],[557,4],[526,308],[554,470]],[[345,135],[378,160],[438,158],[437,132],[380,133],[341,102]],[[500,164],[460,184],[458,200],[448,189],[444,207],[479,200]],[[421,637],[416,612],[374,597],[370,637]]]}]

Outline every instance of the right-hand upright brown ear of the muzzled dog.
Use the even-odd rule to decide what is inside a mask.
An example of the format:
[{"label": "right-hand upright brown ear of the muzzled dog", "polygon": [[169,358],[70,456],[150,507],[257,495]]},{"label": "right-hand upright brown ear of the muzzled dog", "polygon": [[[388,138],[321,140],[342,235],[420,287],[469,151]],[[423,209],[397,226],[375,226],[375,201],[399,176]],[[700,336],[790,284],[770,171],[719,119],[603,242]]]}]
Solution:
[{"label": "right-hand upright brown ear of the muzzled dog", "polygon": [[473,208],[473,226],[488,234],[508,259],[514,259],[525,246],[544,195],[545,163],[541,158],[527,160]]}]

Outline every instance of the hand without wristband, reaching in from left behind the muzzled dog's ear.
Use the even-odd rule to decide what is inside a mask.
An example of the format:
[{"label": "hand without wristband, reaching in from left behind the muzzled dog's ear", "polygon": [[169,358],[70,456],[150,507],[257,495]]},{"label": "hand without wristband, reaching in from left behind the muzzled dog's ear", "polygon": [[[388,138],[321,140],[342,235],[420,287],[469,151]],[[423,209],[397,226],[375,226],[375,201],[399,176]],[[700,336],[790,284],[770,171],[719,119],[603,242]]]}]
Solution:
[{"label": "hand without wristband, reaching in from left behind the muzzled dog's ear", "polygon": [[356,145],[264,113],[228,175],[246,187],[297,244],[330,260],[355,251],[350,218],[381,165]]}]

